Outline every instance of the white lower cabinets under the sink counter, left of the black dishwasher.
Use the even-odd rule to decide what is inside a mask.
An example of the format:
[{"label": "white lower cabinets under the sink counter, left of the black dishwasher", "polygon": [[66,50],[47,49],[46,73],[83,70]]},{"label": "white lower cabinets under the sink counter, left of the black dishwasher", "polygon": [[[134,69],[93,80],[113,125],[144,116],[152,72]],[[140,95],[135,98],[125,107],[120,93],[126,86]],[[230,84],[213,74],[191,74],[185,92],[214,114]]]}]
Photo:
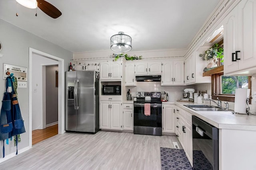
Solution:
[{"label": "white lower cabinets under the sink counter, left of the black dishwasher", "polygon": [[190,164],[193,165],[192,115],[180,107],[176,107],[176,113],[175,133]]}]

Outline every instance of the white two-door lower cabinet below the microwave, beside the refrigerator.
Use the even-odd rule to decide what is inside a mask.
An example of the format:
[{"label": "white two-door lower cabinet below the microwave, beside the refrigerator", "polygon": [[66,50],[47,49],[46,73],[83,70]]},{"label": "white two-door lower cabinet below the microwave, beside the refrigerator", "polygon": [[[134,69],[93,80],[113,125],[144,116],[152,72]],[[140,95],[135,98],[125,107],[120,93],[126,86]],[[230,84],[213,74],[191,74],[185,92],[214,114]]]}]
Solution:
[{"label": "white two-door lower cabinet below the microwave, beside the refrigerator", "polygon": [[100,129],[122,130],[121,102],[100,101]]}]

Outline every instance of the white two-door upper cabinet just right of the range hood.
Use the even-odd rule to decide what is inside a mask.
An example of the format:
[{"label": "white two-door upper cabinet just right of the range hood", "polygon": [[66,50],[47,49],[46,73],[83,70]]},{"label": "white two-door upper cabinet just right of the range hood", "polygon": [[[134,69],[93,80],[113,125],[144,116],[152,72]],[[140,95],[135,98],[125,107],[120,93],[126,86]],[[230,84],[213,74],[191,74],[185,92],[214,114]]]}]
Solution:
[{"label": "white two-door upper cabinet just right of the range hood", "polygon": [[184,61],[165,61],[162,63],[161,85],[184,84]]}]

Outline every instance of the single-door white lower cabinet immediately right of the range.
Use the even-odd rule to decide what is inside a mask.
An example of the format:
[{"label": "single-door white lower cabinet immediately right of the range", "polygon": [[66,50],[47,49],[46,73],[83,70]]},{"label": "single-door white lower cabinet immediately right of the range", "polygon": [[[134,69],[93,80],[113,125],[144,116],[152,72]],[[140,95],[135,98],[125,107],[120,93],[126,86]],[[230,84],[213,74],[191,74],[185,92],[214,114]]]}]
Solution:
[{"label": "single-door white lower cabinet immediately right of the range", "polygon": [[175,105],[162,104],[162,132],[175,133]]}]

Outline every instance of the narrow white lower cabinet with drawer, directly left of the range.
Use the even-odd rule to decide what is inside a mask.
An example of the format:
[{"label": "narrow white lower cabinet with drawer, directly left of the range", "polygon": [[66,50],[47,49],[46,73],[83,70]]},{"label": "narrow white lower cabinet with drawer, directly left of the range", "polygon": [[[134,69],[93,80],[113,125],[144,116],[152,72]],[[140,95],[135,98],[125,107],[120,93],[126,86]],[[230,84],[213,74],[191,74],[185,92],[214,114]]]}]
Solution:
[{"label": "narrow white lower cabinet with drawer, directly left of the range", "polygon": [[133,104],[123,104],[123,130],[133,131]]}]

